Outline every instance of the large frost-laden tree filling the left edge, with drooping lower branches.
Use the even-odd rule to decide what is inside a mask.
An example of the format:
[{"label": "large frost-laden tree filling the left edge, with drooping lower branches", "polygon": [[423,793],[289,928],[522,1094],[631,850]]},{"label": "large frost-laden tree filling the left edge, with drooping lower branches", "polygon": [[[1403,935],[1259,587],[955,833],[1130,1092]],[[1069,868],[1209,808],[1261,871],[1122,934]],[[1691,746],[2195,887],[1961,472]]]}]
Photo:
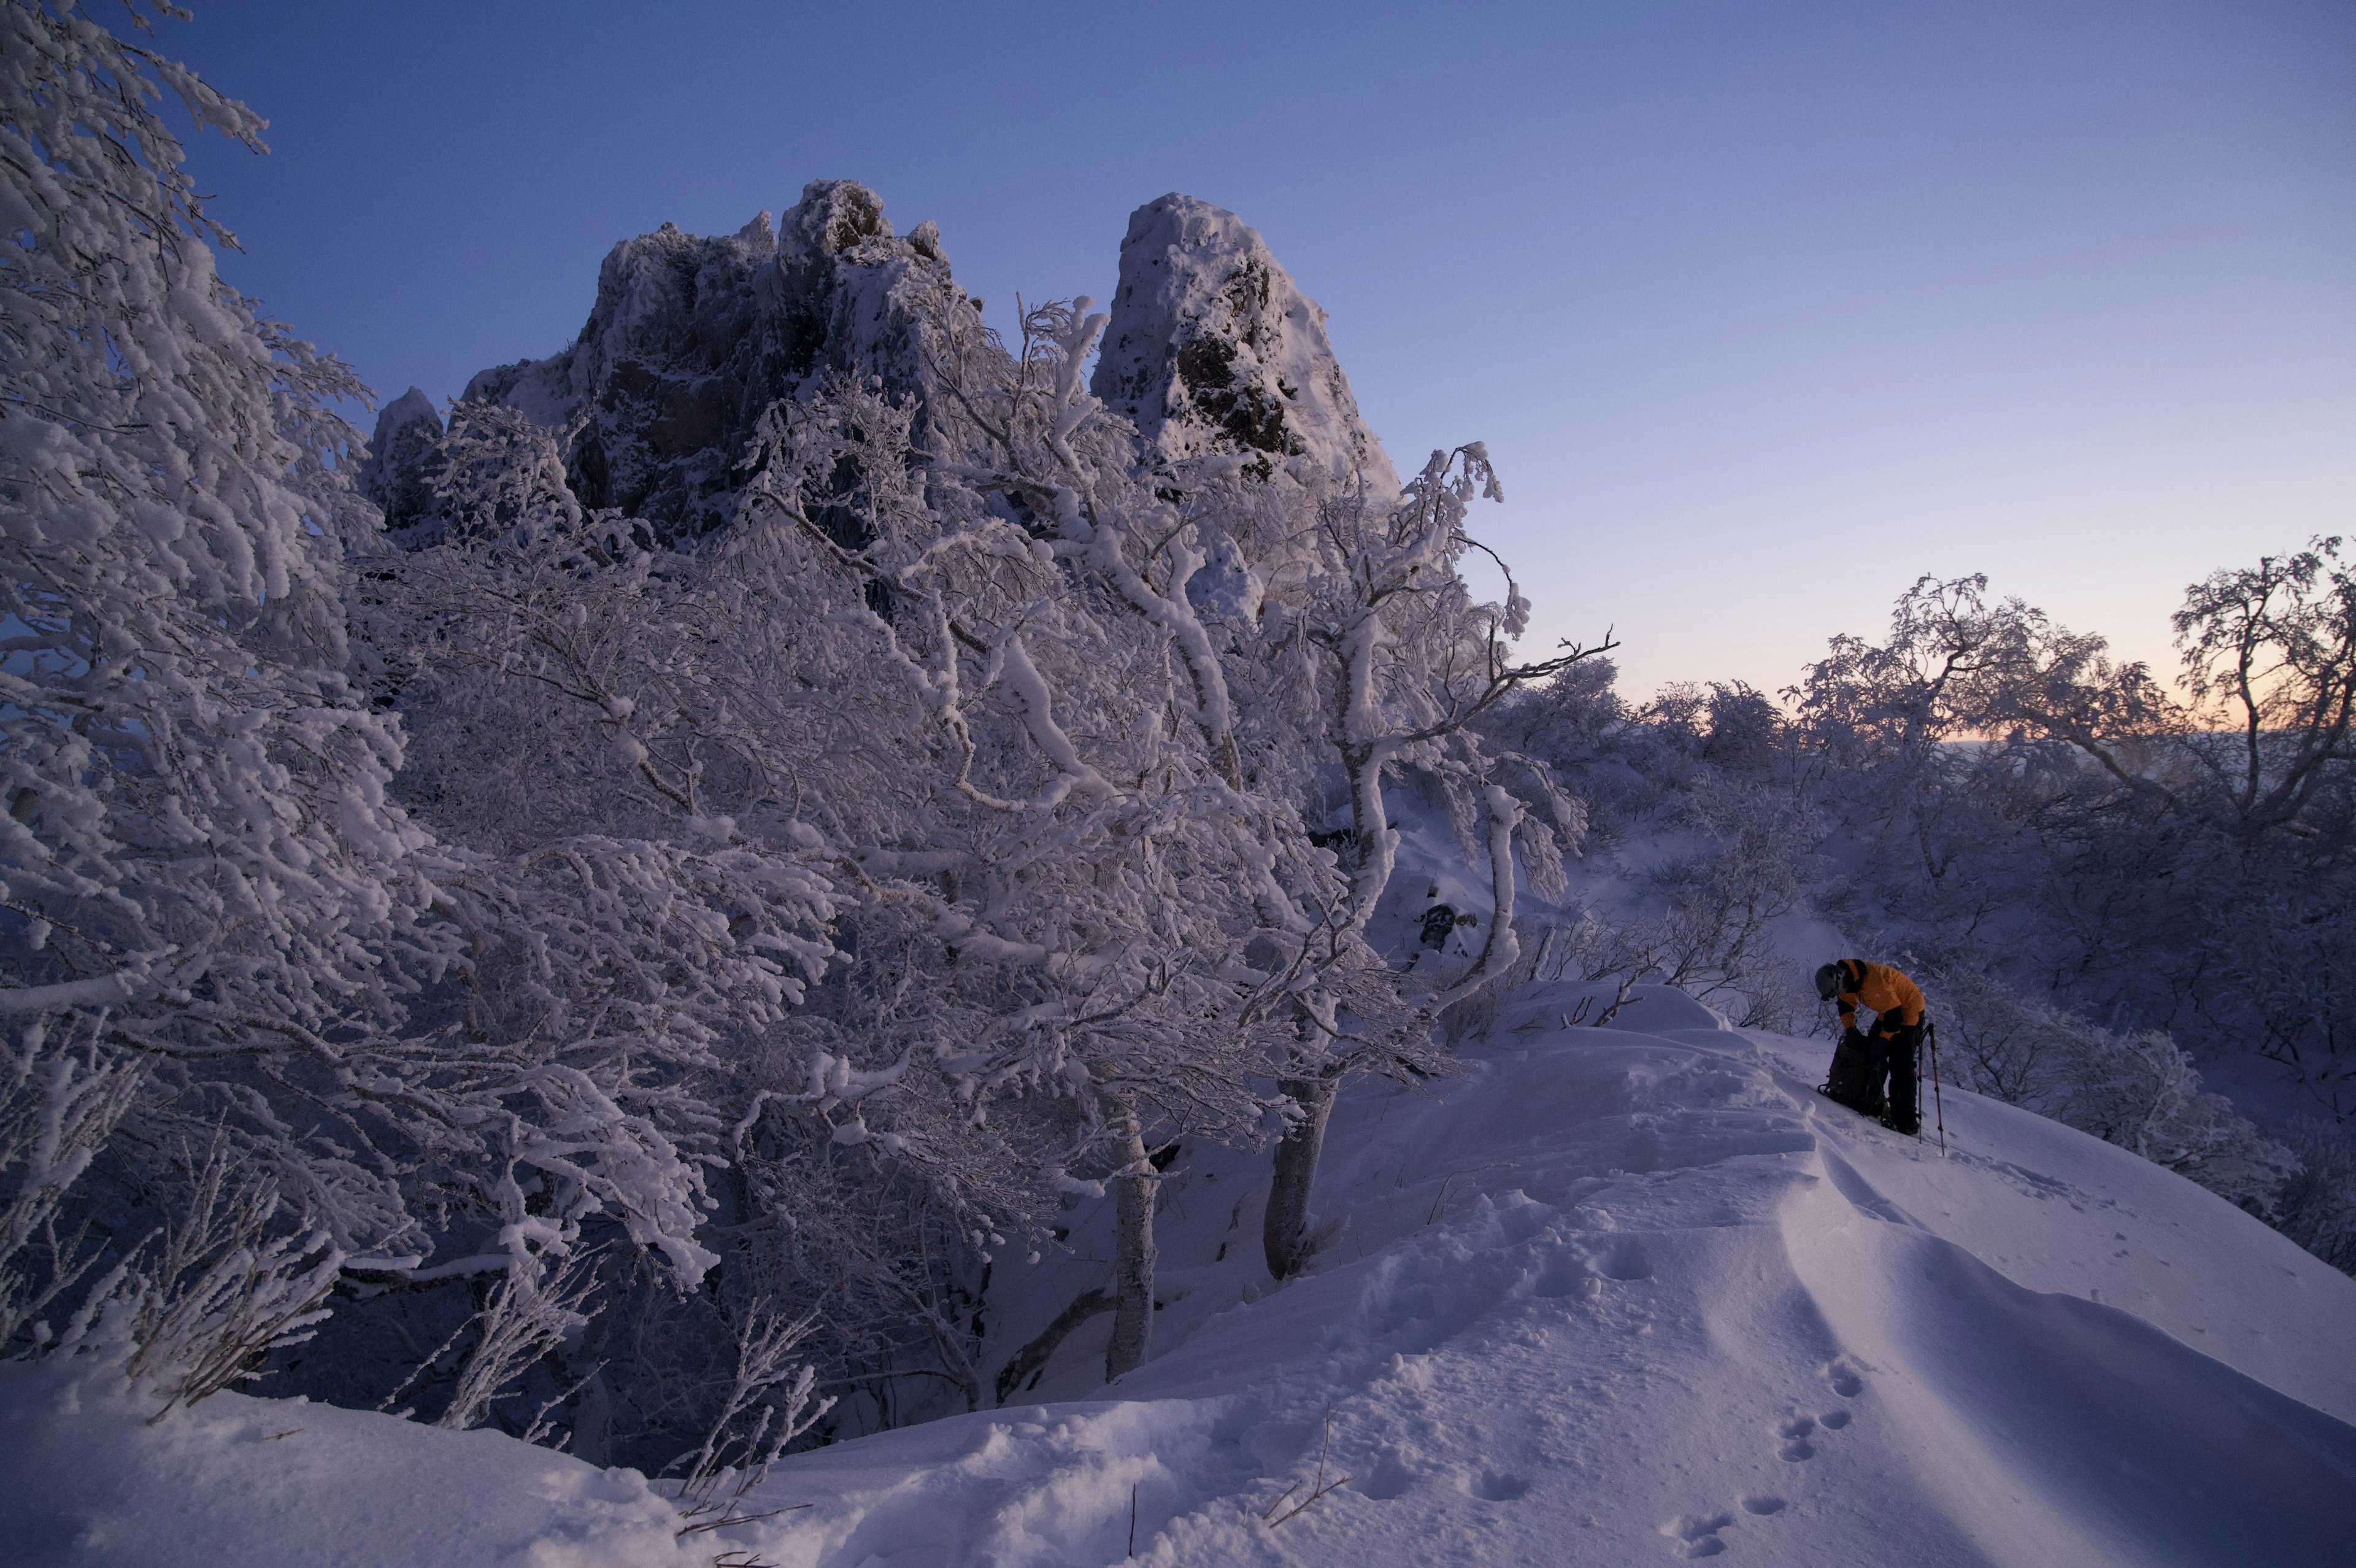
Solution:
[{"label": "large frost-laden tree filling the left edge, with drooping lower branches", "polygon": [[[693,1073],[822,962],[825,877],[726,835],[499,854],[396,804],[401,717],[349,674],[358,387],[219,281],[155,99],[259,120],[78,9],[0,26],[0,1122],[49,1127],[0,1172],[12,1327],[82,1280],[203,1391],[339,1278],[549,1304],[610,1224],[695,1280],[726,1122]],[[490,498],[459,533],[537,538],[563,495],[516,467],[452,476]],[[191,1174],[224,1162],[236,1193]]]}]

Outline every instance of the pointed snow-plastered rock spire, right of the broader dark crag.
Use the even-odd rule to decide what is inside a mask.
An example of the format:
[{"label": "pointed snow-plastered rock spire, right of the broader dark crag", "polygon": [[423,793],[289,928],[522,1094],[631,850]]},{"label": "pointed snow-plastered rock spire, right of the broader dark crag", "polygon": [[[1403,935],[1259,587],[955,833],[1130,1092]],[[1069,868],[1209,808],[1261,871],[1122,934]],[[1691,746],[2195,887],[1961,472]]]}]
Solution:
[{"label": "pointed snow-plastered rock spire, right of the broader dark crag", "polygon": [[1225,207],[1164,196],[1129,215],[1121,281],[1093,391],[1166,457],[1305,457],[1374,495],[1397,495],[1383,443],[1357,413],[1324,311],[1268,241]]}]

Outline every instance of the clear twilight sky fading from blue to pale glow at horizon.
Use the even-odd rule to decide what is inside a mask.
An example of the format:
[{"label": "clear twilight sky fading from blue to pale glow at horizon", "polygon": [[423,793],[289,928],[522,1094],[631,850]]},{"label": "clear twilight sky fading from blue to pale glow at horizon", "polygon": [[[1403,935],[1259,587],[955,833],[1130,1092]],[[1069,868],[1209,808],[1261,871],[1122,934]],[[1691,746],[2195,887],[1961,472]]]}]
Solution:
[{"label": "clear twilight sky fading from blue to pale glow at horizon", "polygon": [[1616,625],[1637,698],[1967,571],[2172,672],[2186,582],[2356,533],[2347,0],[193,2],[160,47],[271,118],[193,149],[224,274],[386,398],[806,179],[1001,325],[1190,191],[1399,467],[1489,443],[1536,634]]}]

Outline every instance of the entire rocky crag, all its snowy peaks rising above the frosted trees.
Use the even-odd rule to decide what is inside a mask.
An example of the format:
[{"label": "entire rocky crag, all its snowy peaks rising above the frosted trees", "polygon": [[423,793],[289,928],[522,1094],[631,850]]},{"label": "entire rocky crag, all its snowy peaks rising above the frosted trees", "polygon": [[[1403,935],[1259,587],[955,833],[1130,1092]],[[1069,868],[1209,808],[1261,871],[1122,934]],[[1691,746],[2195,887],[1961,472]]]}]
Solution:
[{"label": "entire rocky crag, all its snowy peaks rising above the frosted trees", "polygon": [[[683,545],[735,516],[761,413],[815,377],[874,377],[914,396],[921,424],[928,321],[942,309],[980,302],[949,276],[940,231],[895,236],[874,191],[820,179],[777,226],[763,212],[733,236],[664,224],[622,241],[568,349],[483,370],[459,401],[556,431],[584,509],[620,509]],[[1131,215],[1093,391],[1138,427],[1145,462],[1232,453],[1263,479],[1284,467],[1397,495],[1324,311],[1253,229],[1192,196]],[[434,538],[441,434],[410,389],[377,420],[360,472],[386,526],[415,542]]]}]

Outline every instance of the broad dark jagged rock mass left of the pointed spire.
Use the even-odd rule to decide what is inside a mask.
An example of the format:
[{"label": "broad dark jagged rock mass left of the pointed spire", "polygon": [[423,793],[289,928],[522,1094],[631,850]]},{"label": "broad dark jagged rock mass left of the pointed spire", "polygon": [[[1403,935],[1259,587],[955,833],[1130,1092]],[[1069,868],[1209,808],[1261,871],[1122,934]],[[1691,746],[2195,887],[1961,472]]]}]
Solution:
[{"label": "broad dark jagged rock mass left of the pointed spire", "polygon": [[483,370],[464,398],[561,431],[584,507],[620,507],[676,542],[735,514],[735,462],[761,410],[810,377],[921,394],[935,309],[973,309],[938,229],[893,236],[874,191],[815,179],[775,229],[763,212],[723,238],[664,224],[622,241],[580,340]]}]

